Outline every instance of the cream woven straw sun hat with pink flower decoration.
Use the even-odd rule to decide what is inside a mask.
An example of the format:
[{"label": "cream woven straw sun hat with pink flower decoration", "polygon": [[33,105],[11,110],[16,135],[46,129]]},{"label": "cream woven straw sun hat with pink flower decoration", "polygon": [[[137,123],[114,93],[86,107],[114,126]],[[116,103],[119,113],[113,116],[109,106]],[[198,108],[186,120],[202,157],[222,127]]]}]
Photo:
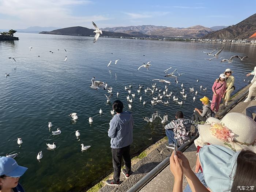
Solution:
[{"label": "cream woven straw sun hat with pink flower decoration", "polygon": [[222,120],[209,117],[206,124],[198,125],[198,131],[204,142],[256,153],[256,122],[245,114],[228,113]]}]

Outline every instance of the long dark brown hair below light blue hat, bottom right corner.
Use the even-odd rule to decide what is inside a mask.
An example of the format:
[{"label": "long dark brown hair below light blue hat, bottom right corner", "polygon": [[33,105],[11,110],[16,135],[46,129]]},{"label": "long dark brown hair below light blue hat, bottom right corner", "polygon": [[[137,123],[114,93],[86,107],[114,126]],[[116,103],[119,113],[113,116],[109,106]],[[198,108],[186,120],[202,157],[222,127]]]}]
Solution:
[{"label": "long dark brown hair below light blue hat, bottom right corner", "polygon": [[256,154],[250,150],[242,150],[237,156],[237,168],[231,192],[237,192],[237,187],[254,186],[256,188]]}]

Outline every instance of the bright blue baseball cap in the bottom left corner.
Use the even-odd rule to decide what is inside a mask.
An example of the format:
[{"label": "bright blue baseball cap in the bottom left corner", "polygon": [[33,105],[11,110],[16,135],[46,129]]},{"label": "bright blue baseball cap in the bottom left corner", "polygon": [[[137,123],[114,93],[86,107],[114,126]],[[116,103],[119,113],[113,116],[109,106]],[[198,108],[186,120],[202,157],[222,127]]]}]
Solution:
[{"label": "bright blue baseball cap in the bottom left corner", "polygon": [[18,163],[10,157],[0,157],[0,176],[20,177],[27,170],[27,167],[19,166]]}]

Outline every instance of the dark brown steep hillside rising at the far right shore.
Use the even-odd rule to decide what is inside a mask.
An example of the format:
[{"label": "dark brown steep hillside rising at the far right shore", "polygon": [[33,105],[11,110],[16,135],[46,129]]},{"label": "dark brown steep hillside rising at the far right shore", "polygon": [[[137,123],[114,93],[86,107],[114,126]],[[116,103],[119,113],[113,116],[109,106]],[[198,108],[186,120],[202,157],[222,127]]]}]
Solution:
[{"label": "dark brown steep hillside rising at the far right shore", "polygon": [[225,29],[214,31],[205,35],[207,39],[248,39],[256,32],[256,14],[249,16],[236,25],[229,26]]}]

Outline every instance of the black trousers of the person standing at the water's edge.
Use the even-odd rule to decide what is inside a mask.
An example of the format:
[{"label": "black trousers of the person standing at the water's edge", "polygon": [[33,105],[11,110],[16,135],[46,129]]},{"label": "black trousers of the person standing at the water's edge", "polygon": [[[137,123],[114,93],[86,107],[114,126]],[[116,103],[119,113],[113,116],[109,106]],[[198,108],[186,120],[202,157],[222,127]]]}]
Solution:
[{"label": "black trousers of the person standing at the water's edge", "polygon": [[130,146],[128,145],[119,149],[111,148],[111,151],[114,168],[114,180],[118,182],[122,167],[122,157],[124,157],[126,173],[131,172]]}]

